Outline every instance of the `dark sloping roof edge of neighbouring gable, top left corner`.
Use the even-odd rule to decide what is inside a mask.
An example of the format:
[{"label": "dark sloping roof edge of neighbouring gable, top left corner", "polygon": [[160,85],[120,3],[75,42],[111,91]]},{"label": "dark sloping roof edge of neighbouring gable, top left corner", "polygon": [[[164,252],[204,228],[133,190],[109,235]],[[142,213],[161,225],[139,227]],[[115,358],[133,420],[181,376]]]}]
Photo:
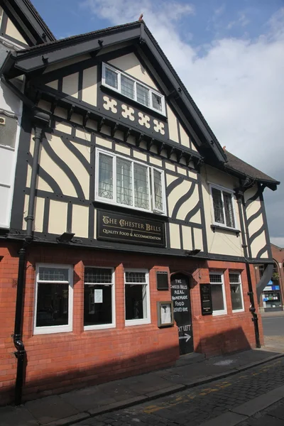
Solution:
[{"label": "dark sloping roof edge of neighbouring gable, top left corner", "polygon": [[55,36],[30,0],[0,0],[0,6],[26,39],[28,45],[33,46],[55,40]]}]

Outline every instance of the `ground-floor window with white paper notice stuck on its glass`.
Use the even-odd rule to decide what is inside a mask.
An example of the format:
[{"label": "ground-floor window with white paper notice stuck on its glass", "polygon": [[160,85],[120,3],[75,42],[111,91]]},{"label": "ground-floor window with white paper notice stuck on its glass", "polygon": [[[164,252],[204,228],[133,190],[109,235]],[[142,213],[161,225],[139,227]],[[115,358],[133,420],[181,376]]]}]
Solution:
[{"label": "ground-floor window with white paper notice stuck on its glass", "polygon": [[84,329],[115,327],[114,270],[84,268]]}]

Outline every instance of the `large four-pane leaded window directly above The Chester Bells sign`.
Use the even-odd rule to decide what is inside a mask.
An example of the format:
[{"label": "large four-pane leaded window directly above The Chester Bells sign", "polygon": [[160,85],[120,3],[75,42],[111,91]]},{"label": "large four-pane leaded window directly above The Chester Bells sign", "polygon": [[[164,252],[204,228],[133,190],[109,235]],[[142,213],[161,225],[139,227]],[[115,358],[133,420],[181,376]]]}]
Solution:
[{"label": "large four-pane leaded window directly above The Chester Bells sign", "polygon": [[97,149],[96,200],[165,214],[163,170]]}]

